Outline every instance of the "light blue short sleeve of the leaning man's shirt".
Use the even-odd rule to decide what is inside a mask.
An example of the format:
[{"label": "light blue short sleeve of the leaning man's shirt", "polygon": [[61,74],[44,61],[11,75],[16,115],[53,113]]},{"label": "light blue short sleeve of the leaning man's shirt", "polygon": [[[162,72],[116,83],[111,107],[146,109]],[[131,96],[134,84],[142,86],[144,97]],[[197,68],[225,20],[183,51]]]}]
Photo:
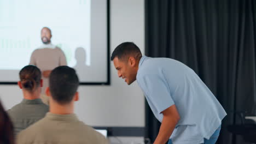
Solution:
[{"label": "light blue short sleeve of the leaning man's shirt", "polygon": [[174,105],[170,88],[164,77],[156,74],[143,75],[137,77],[137,82],[158,113]]}]

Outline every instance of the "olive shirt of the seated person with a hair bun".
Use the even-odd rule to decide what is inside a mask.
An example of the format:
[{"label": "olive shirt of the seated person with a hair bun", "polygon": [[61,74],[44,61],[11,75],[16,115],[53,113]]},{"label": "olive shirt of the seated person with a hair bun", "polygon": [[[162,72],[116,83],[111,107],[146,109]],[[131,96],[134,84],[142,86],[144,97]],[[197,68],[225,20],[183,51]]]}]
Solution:
[{"label": "olive shirt of the seated person with a hair bun", "polygon": [[49,106],[43,104],[41,99],[23,99],[20,104],[7,111],[14,125],[14,134],[17,135],[21,130],[42,119],[48,111]]}]

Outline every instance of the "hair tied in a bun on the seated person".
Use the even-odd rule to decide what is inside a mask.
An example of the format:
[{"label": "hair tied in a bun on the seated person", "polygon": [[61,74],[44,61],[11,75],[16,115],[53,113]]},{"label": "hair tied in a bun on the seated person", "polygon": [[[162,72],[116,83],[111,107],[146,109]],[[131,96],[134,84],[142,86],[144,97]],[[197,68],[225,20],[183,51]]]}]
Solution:
[{"label": "hair tied in a bun on the seated person", "polygon": [[27,65],[20,70],[20,83],[23,89],[33,92],[40,87],[41,71],[34,65]]}]

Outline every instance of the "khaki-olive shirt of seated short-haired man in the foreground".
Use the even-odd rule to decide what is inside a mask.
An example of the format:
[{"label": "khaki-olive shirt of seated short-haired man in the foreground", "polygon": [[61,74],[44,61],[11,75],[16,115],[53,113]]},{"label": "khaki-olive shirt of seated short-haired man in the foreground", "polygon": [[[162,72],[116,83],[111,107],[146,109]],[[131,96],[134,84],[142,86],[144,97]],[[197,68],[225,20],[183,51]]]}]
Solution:
[{"label": "khaki-olive shirt of seated short-haired man in the foreground", "polygon": [[25,143],[108,143],[108,140],[92,127],[80,122],[74,113],[57,115],[48,112],[46,116],[21,131],[16,142]]}]

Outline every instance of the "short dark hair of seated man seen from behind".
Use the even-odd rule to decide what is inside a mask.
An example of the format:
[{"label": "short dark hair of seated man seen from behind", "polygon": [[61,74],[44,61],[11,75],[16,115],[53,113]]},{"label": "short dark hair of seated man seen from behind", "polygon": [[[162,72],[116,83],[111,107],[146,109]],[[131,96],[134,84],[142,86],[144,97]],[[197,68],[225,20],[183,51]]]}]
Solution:
[{"label": "short dark hair of seated man seen from behind", "polygon": [[51,96],[59,104],[72,101],[79,86],[78,76],[73,68],[60,66],[51,71],[49,89]]}]

